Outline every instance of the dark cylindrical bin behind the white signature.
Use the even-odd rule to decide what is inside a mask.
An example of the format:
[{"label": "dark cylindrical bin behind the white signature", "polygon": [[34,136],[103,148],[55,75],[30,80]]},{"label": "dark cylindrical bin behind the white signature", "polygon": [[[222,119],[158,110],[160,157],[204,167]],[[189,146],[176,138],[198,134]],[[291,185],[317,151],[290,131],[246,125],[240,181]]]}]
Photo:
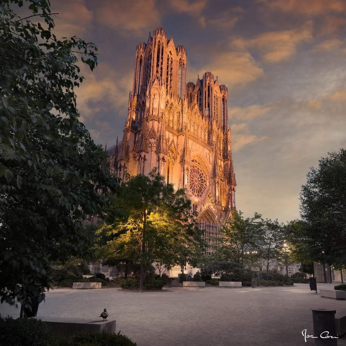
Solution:
[{"label": "dark cylindrical bin behind the white signature", "polygon": [[313,336],[316,346],[337,346],[336,310],[312,309]]}]

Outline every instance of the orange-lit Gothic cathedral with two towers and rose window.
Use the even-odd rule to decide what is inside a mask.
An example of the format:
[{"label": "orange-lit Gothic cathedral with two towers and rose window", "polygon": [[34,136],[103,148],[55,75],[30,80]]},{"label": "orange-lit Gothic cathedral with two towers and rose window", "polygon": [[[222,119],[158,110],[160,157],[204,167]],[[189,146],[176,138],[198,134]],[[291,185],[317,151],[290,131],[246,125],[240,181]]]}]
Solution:
[{"label": "orange-lit Gothic cathedral with two towers and rose window", "polygon": [[135,56],[133,90],[122,141],[108,148],[110,170],[148,174],[154,167],[175,189],[185,188],[208,243],[236,208],[227,87],[206,72],[186,83],[186,50],[162,28]]}]

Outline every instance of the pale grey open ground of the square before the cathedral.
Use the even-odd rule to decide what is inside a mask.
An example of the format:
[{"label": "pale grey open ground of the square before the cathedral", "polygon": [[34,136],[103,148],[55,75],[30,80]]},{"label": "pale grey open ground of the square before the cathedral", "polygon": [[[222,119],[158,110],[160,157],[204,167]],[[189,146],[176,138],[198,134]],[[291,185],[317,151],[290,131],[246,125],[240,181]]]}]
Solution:
[{"label": "pale grey open ground of the square before the cathedral", "polygon": [[[319,284],[333,289],[334,284]],[[311,309],[345,311],[346,301],[321,298],[307,284],[268,288],[171,288],[160,292],[121,289],[56,289],[40,304],[38,316],[95,319],[107,308],[117,331],[138,346],[313,345]],[[19,310],[2,304],[2,315]],[[96,318],[97,319],[97,318]],[[346,345],[346,337],[338,340]]]}]

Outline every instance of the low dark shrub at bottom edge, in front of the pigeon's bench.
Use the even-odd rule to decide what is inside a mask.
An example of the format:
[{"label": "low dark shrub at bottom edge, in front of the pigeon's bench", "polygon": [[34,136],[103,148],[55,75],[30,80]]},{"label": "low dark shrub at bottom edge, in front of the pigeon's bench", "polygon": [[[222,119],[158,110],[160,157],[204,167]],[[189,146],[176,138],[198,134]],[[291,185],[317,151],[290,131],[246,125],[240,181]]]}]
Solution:
[{"label": "low dark shrub at bottom edge, in front of the pigeon's bench", "polygon": [[71,346],[137,346],[126,335],[115,333],[79,333],[71,340]]}]

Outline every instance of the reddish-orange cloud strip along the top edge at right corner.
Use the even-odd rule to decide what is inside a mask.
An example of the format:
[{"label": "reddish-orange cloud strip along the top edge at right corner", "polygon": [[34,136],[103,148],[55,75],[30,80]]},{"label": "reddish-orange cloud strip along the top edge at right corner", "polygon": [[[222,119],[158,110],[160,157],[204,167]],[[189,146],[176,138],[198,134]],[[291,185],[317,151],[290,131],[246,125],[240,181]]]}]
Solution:
[{"label": "reddish-orange cloud strip along the top edge at right corner", "polygon": [[344,0],[258,0],[272,10],[293,12],[306,16],[325,15],[327,12],[345,12]]}]

